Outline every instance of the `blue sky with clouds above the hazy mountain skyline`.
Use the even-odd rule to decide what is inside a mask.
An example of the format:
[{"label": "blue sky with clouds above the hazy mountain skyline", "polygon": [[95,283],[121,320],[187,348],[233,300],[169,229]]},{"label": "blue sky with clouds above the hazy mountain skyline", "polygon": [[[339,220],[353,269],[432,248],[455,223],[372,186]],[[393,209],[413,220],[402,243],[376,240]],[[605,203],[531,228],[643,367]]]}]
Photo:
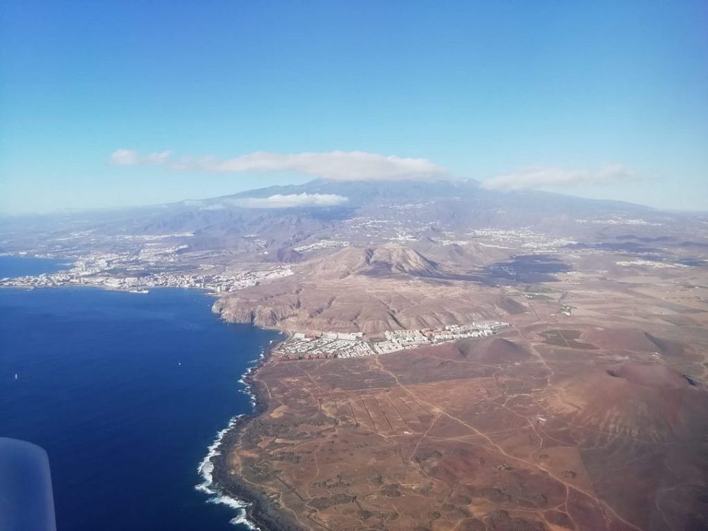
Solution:
[{"label": "blue sky with clouds above the hazy mountain skyline", "polygon": [[347,164],[708,210],[704,1],[10,0],[0,16],[2,213]]}]

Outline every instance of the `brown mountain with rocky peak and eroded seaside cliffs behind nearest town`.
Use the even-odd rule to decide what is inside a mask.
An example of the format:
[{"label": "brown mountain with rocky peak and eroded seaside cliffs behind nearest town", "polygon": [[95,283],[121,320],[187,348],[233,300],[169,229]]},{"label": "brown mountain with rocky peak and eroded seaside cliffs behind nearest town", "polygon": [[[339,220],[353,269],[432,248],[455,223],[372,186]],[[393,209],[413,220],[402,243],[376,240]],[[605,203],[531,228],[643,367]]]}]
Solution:
[{"label": "brown mountain with rocky peak and eroded seaside cliffs behind nearest town", "polygon": [[265,328],[382,333],[496,320],[527,309],[398,244],[341,249],[294,271],[224,295],[213,311]]}]

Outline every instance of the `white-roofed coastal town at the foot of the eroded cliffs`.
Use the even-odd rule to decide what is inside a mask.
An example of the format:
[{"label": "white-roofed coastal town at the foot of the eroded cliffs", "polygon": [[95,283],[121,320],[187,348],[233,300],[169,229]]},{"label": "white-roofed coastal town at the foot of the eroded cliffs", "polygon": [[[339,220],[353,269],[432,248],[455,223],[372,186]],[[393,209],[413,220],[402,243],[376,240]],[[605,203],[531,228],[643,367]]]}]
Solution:
[{"label": "white-roofed coastal town at the foot of the eroded cliffs", "polygon": [[280,343],[273,356],[282,361],[361,358],[458,339],[487,337],[508,326],[501,321],[482,321],[438,329],[386,331],[382,337],[370,339],[361,332],[297,332]]}]

